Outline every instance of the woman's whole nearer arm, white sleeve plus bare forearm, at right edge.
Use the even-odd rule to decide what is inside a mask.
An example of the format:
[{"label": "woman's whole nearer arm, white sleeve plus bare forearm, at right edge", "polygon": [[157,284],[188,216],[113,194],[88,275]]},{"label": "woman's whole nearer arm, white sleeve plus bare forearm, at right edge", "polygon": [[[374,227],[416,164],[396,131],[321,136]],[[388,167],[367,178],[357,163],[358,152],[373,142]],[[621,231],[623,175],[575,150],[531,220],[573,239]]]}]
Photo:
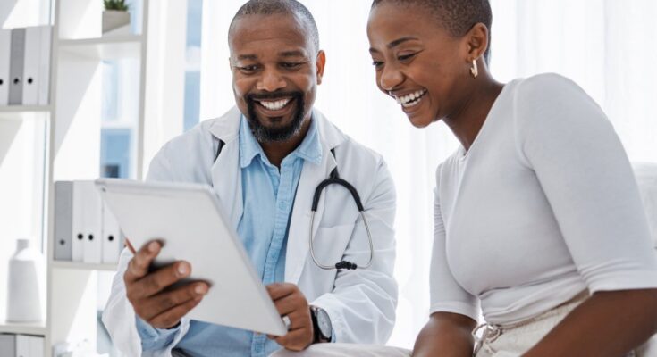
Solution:
[{"label": "woman's whole nearer arm, white sleeve plus bare forearm, at right edge", "polygon": [[573,82],[545,75],[522,86],[518,154],[593,293],[526,355],[620,356],[657,328],[657,260],[628,155]]}]

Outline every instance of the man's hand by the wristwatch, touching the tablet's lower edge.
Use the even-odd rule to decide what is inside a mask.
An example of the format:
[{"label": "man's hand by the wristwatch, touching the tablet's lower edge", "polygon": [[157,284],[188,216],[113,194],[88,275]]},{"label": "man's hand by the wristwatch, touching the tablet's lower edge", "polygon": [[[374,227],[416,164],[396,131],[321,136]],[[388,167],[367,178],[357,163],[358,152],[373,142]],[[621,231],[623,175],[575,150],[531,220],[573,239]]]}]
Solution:
[{"label": "man's hand by the wristwatch, touching the tablet's lower edge", "polygon": [[[274,283],[267,286],[276,310],[281,316],[290,319],[290,330],[285,336],[275,337],[274,341],[288,350],[301,351],[313,343],[315,330],[310,318],[310,306],[299,286],[289,283]],[[270,337],[272,338],[272,337]]]}]

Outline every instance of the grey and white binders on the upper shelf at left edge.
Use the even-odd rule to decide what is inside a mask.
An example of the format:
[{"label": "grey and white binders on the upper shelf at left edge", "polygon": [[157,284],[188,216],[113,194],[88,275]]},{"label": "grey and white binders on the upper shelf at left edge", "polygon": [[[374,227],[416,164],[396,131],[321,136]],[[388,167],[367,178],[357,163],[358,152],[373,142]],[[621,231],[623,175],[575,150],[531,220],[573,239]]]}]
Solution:
[{"label": "grey and white binders on the upper shelf at left edge", "polygon": [[49,103],[52,29],[0,29],[0,106]]}]

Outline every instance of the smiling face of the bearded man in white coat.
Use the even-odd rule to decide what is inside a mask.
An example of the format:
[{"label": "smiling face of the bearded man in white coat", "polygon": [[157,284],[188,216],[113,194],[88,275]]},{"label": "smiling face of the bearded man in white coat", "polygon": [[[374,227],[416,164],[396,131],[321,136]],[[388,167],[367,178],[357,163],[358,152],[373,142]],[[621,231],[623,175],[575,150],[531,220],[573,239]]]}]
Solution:
[{"label": "smiling face of the bearded man in white coat", "polygon": [[289,14],[245,15],[232,28],[235,102],[260,142],[284,141],[310,119],[324,72],[307,27]]}]

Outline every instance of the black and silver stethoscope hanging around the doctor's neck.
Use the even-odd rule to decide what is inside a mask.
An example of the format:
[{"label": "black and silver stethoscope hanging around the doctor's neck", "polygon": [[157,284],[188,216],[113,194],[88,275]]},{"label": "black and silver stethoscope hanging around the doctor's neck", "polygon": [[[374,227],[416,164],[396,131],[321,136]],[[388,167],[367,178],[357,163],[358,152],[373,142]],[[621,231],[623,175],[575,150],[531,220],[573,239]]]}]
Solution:
[{"label": "black and silver stethoscope hanging around the doctor's neck", "polygon": [[[215,154],[215,162],[216,159],[219,158],[219,154],[221,154],[223,145],[225,143],[223,140],[218,140],[218,146],[216,149],[216,154]],[[335,159],[335,149],[331,149],[331,154],[333,154],[333,158]],[[337,159],[336,159],[337,162]],[[350,194],[351,197],[354,200],[354,203],[356,203],[356,207],[358,208],[358,212],[360,213],[360,218],[363,219],[363,224],[365,225],[365,230],[367,232],[367,241],[369,243],[369,260],[367,263],[361,267],[358,267],[358,264],[355,262],[349,262],[349,261],[341,261],[341,262],[336,262],[333,265],[326,265],[323,264],[322,262],[319,262],[317,260],[317,257],[315,256],[315,237],[313,236],[313,227],[315,225],[315,213],[317,212],[317,206],[319,205],[319,199],[322,196],[322,191],[324,188],[330,186],[330,185],[339,185],[341,187],[346,188]],[[369,230],[369,225],[367,224],[367,219],[365,217],[365,209],[363,208],[363,203],[360,202],[360,195],[358,195],[358,191],[356,190],[356,187],[353,187],[349,181],[345,179],[341,179],[340,173],[338,172],[337,166],[331,171],[331,174],[329,175],[328,179],[324,179],[324,181],[320,182],[319,185],[315,188],[315,194],[313,195],[313,205],[310,209],[310,237],[308,239],[308,245],[310,245],[310,256],[313,258],[313,262],[315,262],[315,265],[321,269],[324,270],[356,270],[358,268],[360,269],[367,269],[372,265],[372,261],[374,260],[375,257],[375,245],[372,242],[372,233]]]}]

